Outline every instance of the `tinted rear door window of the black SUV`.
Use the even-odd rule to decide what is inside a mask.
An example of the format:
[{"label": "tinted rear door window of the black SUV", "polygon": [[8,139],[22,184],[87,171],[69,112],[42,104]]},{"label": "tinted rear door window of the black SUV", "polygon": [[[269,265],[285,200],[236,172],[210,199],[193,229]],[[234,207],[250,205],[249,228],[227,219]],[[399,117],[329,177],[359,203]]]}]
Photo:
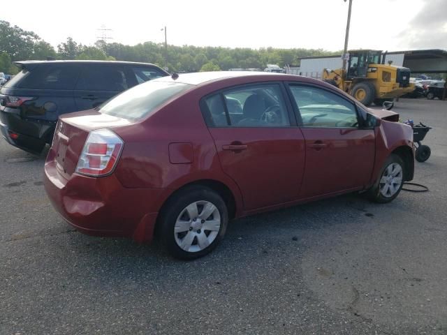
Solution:
[{"label": "tinted rear door window of the black SUV", "polygon": [[84,65],[76,90],[121,92],[129,88],[121,66]]}]

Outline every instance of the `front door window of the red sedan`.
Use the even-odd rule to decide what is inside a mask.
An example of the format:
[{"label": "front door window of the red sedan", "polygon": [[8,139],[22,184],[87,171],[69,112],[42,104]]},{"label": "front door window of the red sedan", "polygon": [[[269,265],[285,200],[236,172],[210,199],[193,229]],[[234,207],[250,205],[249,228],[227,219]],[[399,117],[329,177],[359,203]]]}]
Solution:
[{"label": "front door window of the red sedan", "polygon": [[291,85],[302,126],[309,128],[358,128],[353,103],[324,89]]}]

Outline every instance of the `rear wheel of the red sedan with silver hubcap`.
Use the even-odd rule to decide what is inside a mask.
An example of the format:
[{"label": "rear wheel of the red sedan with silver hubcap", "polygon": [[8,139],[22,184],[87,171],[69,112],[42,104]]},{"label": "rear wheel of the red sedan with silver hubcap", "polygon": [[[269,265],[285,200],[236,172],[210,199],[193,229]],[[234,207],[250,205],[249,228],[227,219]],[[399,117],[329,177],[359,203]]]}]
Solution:
[{"label": "rear wheel of the red sedan with silver hubcap", "polygon": [[174,258],[193,260],[217,247],[227,225],[228,209],[221,196],[206,186],[191,186],[163,206],[159,237]]}]

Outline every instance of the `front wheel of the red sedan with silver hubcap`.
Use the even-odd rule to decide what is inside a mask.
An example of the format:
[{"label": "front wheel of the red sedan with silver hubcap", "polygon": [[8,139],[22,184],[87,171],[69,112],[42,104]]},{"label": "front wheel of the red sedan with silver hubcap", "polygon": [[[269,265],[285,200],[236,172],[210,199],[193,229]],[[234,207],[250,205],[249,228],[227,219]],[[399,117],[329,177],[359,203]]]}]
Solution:
[{"label": "front wheel of the red sedan with silver hubcap", "polygon": [[[404,185],[405,172],[402,158],[396,154],[390,154],[381,168],[379,178],[366,193],[369,200],[381,204],[395,200]],[[397,183],[399,178],[400,182]]]}]

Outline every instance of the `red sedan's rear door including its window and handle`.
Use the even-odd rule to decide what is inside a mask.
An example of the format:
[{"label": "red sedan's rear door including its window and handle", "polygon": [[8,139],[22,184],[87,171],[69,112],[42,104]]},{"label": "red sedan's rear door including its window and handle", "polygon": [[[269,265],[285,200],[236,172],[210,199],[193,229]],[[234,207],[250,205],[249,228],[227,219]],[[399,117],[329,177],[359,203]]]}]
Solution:
[{"label": "red sedan's rear door including its window and handle", "polygon": [[223,171],[240,187],[245,211],[298,198],[305,142],[281,84],[221,91],[202,105]]}]

